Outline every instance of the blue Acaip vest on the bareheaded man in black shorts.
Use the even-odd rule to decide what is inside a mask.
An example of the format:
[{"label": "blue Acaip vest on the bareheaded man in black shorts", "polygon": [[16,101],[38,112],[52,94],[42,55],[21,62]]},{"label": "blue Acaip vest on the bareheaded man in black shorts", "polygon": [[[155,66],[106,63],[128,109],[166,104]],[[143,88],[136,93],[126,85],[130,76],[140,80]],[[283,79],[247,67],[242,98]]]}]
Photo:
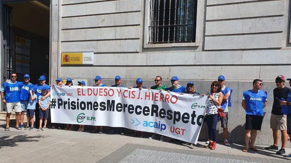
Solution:
[{"label": "blue Acaip vest on the bareheaded man in black shorts", "polygon": [[267,92],[263,90],[259,90],[258,92],[252,90],[244,91],[246,114],[263,116],[264,102],[267,97]]}]

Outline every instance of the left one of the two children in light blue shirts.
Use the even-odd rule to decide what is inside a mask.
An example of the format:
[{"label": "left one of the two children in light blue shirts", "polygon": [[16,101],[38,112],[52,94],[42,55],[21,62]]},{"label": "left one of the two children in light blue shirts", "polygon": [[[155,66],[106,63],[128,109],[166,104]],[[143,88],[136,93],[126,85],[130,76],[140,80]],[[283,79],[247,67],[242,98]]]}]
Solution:
[{"label": "left one of the two children in light blue shirts", "polygon": [[[34,116],[34,112],[35,112],[35,105],[36,105],[36,101],[37,101],[37,95],[35,94],[36,89],[34,87],[30,88],[30,90],[31,90],[32,93],[29,94],[30,97],[29,97],[28,104],[27,104],[27,113],[26,113],[27,126],[24,128],[25,130],[26,129],[28,129],[28,130],[33,130],[34,129],[34,127],[33,127],[33,124],[34,124],[33,116]],[[31,127],[29,127],[30,121],[31,121]]]}]

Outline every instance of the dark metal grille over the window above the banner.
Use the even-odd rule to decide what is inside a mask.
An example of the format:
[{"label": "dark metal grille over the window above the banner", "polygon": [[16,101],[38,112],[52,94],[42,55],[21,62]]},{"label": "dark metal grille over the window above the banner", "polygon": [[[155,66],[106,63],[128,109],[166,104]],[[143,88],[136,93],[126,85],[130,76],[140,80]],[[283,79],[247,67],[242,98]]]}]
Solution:
[{"label": "dark metal grille over the window above the banner", "polygon": [[150,0],[149,43],[195,42],[197,0]]}]

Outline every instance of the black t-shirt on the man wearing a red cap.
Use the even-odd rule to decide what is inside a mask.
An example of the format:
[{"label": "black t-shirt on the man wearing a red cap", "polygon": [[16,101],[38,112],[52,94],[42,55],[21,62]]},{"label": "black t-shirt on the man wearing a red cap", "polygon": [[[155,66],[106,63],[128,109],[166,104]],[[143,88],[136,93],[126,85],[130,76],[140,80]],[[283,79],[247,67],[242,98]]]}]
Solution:
[{"label": "black t-shirt on the man wearing a red cap", "polygon": [[282,114],[282,106],[280,106],[279,101],[275,98],[277,97],[278,99],[281,100],[281,98],[284,98],[285,101],[287,100],[287,95],[291,91],[290,88],[284,87],[282,89],[275,88],[273,90],[273,95],[274,95],[274,103],[273,103],[273,108],[272,108],[272,113],[275,115],[283,115]]}]

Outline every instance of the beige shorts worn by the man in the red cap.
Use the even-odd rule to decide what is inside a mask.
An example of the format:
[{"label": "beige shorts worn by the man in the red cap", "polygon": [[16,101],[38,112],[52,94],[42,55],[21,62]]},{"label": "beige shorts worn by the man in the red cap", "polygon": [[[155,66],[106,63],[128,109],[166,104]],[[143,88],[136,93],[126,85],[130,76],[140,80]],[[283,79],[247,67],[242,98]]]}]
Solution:
[{"label": "beige shorts worn by the man in the red cap", "polygon": [[287,116],[274,115],[271,113],[270,128],[277,128],[278,130],[287,130]]}]

